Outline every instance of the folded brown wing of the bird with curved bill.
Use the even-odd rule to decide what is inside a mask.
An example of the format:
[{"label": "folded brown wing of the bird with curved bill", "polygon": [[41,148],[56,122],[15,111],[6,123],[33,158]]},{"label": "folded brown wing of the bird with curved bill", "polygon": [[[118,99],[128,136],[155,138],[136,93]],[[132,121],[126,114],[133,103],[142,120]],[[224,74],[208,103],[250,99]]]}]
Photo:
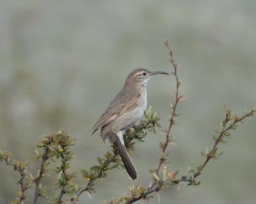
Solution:
[{"label": "folded brown wing of the bird with curved bill", "polygon": [[[120,100],[120,98],[122,98],[122,100]],[[117,95],[117,97],[110,102],[110,106],[102,114],[100,119],[98,119],[95,125],[92,127],[92,134],[100,127],[109,124],[114,119],[117,119],[117,117],[132,109],[136,103],[137,97],[132,97],[132,95]]]}]

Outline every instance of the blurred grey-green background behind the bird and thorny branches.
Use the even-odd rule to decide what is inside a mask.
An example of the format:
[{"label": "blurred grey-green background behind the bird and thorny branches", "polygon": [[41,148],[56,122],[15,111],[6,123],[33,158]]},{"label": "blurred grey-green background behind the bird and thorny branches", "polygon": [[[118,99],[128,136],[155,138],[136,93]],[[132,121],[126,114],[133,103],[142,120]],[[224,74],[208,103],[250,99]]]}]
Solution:
[{"label": "blurred grey-green background behind the bird and thorny branches", "polygon": [[[169,149],[170,171],[186,174],[203,161],[220,129],[224,104],[236,114],[256,105],[256,1],[1,1],[0,6],[0,149],[14,159],[30,159],[43,134],[63,129],[77,139],[73,171],[90,168],[110,149],[86,134],[135,68],[171,72],[169,40],[181,63],[178,126]],[[174,78],[149,81],[148,104],[168,126]],[[221,144],[223,156],[206,166],[201,186],[161,191],[161,203],[255,203],[255,119]],[[98,181],[92,200],[125,195],[128,186],[149,185],[148,168],[160,155],[156,135],[138,144],[132,155],[139,178],[111,171]],[[31,163],[36,172],[38,161]],[[18,174],[0,165],[0,203],[16,196]],[[54,181],[50,172],[48,182]],[[55,181],[54,181],[55,182]],[[33,192],[31,192],[33,193]],[[28,202],[29,203],[29,202]],[[41,203],[44,203],[42,201]],[[140,201],[139,203],[144,203]],[[157,196],[150,203],[158,203]]]}]

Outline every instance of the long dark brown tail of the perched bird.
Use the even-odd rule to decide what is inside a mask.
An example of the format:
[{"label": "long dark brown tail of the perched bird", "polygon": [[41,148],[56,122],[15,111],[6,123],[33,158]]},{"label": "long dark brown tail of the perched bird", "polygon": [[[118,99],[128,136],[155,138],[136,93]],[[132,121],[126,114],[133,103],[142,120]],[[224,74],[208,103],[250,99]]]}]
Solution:
[{"label": "long dark brown tail of the perched bird", "polygon": [[124,163],[124,167],[127,170],[127,173],[133,180],[135,180],[137,178],[137,171],[132,164],[132,161],[129,157],[127,149],[121,143],[121,141],[119,140],[118,137],[117,137],[116,141],[114,141],[114,146],[117,148],[117,151],[118,151],[119,155],[121,156],[121,159]]}]

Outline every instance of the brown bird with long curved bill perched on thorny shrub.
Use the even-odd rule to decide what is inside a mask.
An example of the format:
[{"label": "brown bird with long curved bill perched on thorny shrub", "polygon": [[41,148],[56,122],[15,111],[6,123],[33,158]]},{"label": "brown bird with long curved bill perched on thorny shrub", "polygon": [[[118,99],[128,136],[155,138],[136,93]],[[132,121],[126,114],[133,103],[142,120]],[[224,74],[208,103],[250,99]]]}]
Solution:
[{"label": "brown bird with long curved bill perched on thorny shrub", "polygon": [[101,128],[100,136],[103,141],[108,139],[116,147],[124,168],[133,180],[137,178],[137,171],[125,147],[123,134],[144,116],[147,105],[146,84],[151,76],[157,74],[169,75],[166,72],[144,68],[133,70],[127,76],[122,90],[92,127],[92,134]]}]

